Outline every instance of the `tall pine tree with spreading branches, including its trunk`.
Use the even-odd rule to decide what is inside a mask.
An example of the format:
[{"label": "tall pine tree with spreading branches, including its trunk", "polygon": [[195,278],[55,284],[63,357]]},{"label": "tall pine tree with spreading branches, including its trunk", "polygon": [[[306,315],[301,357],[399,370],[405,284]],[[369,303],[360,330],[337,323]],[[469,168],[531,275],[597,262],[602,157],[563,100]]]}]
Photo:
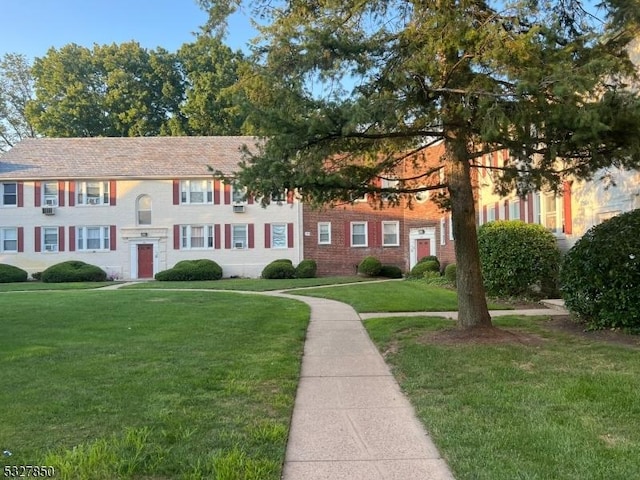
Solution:
[{"label": "tall pine tree with spreading branches, including its trunk", "polygon": [[[213,27],[241,4],[199,3]],[[240,180],[265,198],[295,187],[307,201],[344,200],[379,192],[372,179],[395,175],[399,153],[420,169],[420,151],[444,142],[444,176],[424,166],[397,193],[444,178],[462,327],[491,325],[471,181],[482,154],[508,149],[501,188],[521,193],[640,164],[640,102],[626,83],[637,0],[249,3],[262,27],[240,87],[266,143]]]}]

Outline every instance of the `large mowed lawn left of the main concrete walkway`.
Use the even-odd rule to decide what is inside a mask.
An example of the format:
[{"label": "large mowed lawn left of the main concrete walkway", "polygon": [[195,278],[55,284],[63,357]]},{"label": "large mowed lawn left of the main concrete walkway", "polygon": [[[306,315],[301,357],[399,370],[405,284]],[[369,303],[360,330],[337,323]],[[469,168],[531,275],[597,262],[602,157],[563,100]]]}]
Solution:
[{"label": "large mowed lawn left of the main concrete walkway", "polygon": [[0,456],[56,478],[279,479],[306,305],[215,292],[3,295]]}]

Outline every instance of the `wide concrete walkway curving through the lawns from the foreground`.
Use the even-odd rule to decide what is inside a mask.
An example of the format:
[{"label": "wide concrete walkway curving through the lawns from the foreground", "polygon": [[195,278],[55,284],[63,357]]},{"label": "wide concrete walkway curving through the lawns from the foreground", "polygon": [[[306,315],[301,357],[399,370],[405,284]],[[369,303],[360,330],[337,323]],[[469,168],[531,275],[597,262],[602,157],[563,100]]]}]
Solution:
[{"label": "wide concrete walkway curving through the lawns from the foreground", "polygon": [[452,480],[355,310],[274,294],[311,307],[282,478]]}]

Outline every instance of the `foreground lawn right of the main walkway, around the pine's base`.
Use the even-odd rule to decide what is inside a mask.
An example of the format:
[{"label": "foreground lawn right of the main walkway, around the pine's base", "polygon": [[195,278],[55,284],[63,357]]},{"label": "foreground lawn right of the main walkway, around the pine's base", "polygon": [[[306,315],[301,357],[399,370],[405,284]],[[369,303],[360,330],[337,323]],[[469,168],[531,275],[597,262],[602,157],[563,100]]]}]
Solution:
[{"label": "foreground lawn right of the main walkway, around the pine's base", "polygon": [[640,347],[495,324],[537,341],[442,344],[442,319],[366,322],[455,478],[640,478]]}]

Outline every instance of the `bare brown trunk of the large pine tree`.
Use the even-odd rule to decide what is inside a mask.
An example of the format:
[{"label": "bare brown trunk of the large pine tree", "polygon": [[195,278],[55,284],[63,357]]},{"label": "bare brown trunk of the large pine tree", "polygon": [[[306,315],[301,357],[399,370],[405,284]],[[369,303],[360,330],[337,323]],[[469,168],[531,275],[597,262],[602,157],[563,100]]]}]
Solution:
[{"label": "bare brown trunk of the large pine tree", "polygon": [[455,238],[458,326],[489,328],[492,324],[480,270],[471,167],[466,145],[461,143],[447,143],[445,160]]}]

